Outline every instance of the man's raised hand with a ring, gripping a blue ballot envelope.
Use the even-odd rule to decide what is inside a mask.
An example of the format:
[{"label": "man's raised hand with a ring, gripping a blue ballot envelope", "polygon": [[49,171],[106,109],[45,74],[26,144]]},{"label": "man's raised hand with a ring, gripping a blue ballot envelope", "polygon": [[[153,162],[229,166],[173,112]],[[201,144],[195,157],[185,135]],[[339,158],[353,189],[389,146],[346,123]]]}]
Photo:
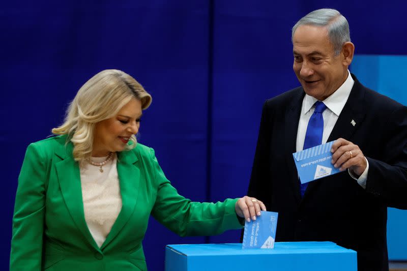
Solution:
[{"label": "man's raised hand with a ring, gripping a blue ballot envelope", "polygon": [[359,177],[366,169],[367,163],[362,150],[350,141],[338,138],[332,144],[331,153],[331,163],[340,171],[348,168]]}]

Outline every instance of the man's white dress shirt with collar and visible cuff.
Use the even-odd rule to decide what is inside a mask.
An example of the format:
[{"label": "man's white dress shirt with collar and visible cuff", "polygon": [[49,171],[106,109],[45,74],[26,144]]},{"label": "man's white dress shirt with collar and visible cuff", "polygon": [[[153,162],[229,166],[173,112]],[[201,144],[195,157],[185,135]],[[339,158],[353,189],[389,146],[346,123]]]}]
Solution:
[{"label": "man's white dress shirt with collar and visible cuff", "polygon": [[[327,109],[322,113],[322,116],[324,118],[324,132],[322,135],[322,144],[327,143],[328,137],[331,134],[332,130],[334,129],[334,126],[336,124],[336,121],[338,120],[338,117],[340,115],[340,112],[342,112],[343,107],[346,104],[347,99],[349,98],[349,95],[351,94],[352,87],[355,83],[353,80],[351,73],[347,71],[347,78],[345,82],[333,93],[331,96],[326,98],[323,102],[327,106]],[[298,131],[297,131],[297,152],[303,149],[304,147],[304,141],[305,141],[305,134],[307,132],[307,127],[308,127],[308,122],[309,119],[311,118],[312,113],[315,110],[314,103],[317,100],[305,94],[304,100],[302,101],[302,107],[301,107],[301,114],[300,114],[300,122],[298,123]],[[367,159],[366,159],[367,162]],[[366,188],[366,179],[367,179],[367,172],[369,169],[369,163],[367,163],[365,171],[362,173],[362,175],[357,178],[355,175],[352,174],[352,172],[349,172],[349,174],[356,180],[358,180],[358,184],[362,186],[364,189]]]}]

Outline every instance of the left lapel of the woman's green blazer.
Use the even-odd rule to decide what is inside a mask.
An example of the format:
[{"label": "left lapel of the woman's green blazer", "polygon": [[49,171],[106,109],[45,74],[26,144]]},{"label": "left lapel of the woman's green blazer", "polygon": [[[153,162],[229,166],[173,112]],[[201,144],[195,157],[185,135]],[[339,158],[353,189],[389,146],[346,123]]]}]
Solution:
[{"label": "left lapel of the woman's green blazer", "polygon": [[68,143],[55,151],[56,156],[60,159],[55,163],[55,167],[62,196],[79,231],[92,247],[99,250],[85,221],[79,166],[73,159],[72,150],[73,144]]}]

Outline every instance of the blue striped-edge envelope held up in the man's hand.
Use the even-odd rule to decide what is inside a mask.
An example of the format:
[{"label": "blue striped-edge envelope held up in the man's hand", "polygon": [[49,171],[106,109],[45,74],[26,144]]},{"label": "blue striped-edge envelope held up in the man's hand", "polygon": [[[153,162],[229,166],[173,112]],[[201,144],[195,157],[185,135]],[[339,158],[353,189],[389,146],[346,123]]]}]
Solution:
[{"label": "blue striped-edge envelope held up in the man's hand", "polygon": [[335,168],[331,164],[331,148],[334,142],[307,148],[293,154],[301,184],[340,172],[339,168]]}]

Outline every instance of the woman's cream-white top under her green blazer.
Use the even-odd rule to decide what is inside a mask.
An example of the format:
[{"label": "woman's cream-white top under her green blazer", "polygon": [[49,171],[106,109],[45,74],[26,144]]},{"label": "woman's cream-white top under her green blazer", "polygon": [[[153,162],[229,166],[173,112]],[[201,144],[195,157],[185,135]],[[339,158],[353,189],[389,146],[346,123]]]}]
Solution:
[{"label": "woman's cream-white top under her green blazer", "polygon": [[[107,157],[92,157],[92,161],[100,163]],[[100,171],[100,166],[83,163],[80,167],[83,210],[96,244],[101,247],[111,227],[122,209],[117,156],[108,161]]]}]

